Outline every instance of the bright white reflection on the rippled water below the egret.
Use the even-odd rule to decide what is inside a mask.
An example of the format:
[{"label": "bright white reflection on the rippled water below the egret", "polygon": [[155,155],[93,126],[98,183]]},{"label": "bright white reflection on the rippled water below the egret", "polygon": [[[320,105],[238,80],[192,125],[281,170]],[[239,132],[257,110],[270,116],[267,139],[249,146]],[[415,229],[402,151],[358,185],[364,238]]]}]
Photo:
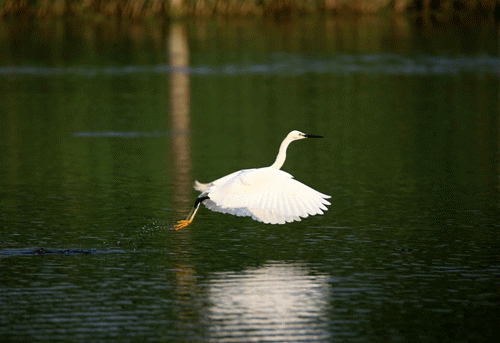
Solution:
[{"label": "bright white reflection on the rippled water below the egret", "polygon": [[208,299],[214,341],[318,341],[329,337],[325,276],[305,267],[270,264],[216,273]]}]

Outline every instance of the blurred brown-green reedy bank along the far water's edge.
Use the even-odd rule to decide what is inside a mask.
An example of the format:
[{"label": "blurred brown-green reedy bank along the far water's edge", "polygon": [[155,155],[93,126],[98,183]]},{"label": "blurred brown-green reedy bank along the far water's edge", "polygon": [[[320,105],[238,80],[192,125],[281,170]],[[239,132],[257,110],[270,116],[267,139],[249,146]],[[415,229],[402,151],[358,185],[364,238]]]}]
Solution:
[{"label": "blurred brown-green reedy bank along the far water's edge", "polygon": [[449,20],[500,18],[500,0],[0,0],[0,17],[293,16],[406,12]]}]

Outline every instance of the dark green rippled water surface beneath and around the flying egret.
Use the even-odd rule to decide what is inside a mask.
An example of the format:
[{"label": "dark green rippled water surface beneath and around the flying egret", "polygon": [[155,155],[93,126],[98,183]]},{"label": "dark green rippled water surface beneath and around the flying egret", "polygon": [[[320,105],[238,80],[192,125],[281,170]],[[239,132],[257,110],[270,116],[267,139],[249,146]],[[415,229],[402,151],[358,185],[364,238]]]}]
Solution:
[{"label": "dark green rippled water surface beneath and around the flying egret", "polygon": [[[2,22],[0,341],[491,341],[498,32]],[[292,129],[325,215],[169,231]]]}]

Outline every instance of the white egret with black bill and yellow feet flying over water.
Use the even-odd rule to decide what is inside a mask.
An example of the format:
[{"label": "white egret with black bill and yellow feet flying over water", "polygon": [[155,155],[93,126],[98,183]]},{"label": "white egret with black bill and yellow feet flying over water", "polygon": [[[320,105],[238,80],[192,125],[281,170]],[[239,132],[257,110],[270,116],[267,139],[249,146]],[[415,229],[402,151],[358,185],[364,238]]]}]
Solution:
[{"label": "white egret with black bill and yellow feet flying over water", "polygon": [[195,181],[194,188],[201,194],[186,220],[179,220],[172,230],[188,226],[201,203],[212,211],[252,217],[266,224],[285,224],[300,221],[301,217],[323,214],[323,211],[328,210],[326,205],[330,205],[326,200],[330,196],[294,180],[292,175],[280,170],[285,163],[288,145],[304,138],[322,136],[294,130],[281,143],[276,161],[271,166],[243,169],[210,183]]}]

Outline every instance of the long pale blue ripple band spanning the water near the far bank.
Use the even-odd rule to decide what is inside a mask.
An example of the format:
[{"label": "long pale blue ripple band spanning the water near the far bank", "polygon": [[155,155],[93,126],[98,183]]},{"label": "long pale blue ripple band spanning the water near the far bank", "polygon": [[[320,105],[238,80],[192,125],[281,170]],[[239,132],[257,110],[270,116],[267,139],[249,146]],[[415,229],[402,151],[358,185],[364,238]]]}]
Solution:
[{"label": "long pale blue ripple band spanning the water near the far bank", "polygon": [[[272,57],[271,57],[272,58]],[[454,75],[458,73],[479,73],[500,75],[500,58],[492,56],[446,57],[416,56],[397,54],[335,55],[331,58],[305,56],[279,56],[280,59],[268,63],[225,64],[219,66],[198,65],[177,67],[168,64],[152,66],[113,67],[0,67],[0,75],[64,76],[82,77],[122,76],[131,74],[171,74],[188,75],[302,75],[313,74],[374,74],[374,75]]]}]

